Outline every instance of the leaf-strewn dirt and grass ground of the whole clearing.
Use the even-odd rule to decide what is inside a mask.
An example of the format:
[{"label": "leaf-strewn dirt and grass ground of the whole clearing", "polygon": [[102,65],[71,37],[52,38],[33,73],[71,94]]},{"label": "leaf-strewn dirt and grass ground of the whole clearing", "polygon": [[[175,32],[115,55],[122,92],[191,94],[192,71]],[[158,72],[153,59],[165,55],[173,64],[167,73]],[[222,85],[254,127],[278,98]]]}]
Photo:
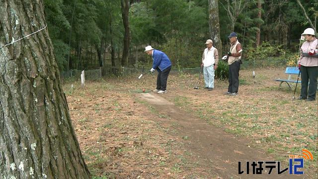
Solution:
[{"label": "leaf-strewn dirt and grass ground of the whole clearing", "polygon": [[[224,95],[224,81],[208,91],[201,79],[193,89],[198,75],[188,74],[169,76],[167,94],[149,92],[156,83],[151,75],[86,82],[85,88],[67,82],[73,125],[93,178],[317,178],[317,100],[293,100],[287,85],[278,89],[272,79],[287,78],[284,69],[257,70],[255,79],[251,74],[240,72],[238,96]],[[285,169],[288,156],[303,148],[316,158],[305,161],[305,175],[277,175],[277,168],[268,175],[265,167],[262,175],[252,174],[252,161],[281,161]]]}]

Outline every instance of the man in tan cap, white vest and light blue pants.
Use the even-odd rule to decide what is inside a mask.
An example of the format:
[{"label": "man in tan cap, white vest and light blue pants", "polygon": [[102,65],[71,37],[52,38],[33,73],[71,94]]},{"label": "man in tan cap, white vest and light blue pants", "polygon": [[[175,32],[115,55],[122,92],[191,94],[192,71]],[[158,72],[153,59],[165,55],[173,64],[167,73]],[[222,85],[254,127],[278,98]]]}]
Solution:
[{"label": "man in tan cap, white vest and light blue pants", "polygon": [[207,48],[203,51],[201,68],[203,67],[205,88],[212,90],[214,88],[214,72],[218,68],[219,54],[218,50],[212,46],[213,41],[211,39],[208,39],[205,44]]}]

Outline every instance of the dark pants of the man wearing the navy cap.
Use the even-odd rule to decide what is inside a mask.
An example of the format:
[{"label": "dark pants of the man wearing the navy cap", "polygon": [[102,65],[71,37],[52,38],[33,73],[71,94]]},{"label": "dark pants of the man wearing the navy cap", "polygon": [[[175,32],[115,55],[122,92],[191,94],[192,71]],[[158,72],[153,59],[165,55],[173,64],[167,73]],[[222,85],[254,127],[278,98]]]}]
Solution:
[{"label": "dark pants of the man wearing the navy cap", "polygon": [[239,69],[240,63],[235,61],[233,64],[229,65],[229,88],[228,92],[238,92],[239,91]]}]

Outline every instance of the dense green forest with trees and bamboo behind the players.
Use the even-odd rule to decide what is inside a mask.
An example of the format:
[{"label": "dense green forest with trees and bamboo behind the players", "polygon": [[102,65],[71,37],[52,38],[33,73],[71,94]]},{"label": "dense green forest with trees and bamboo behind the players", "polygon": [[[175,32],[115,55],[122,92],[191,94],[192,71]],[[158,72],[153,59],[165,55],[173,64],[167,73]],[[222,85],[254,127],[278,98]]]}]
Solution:
[{"label": "dense green forest with trees and bamboo behind the players", "polygon": [[[235,31],[244,61],[296,65],[300,36],[316,29],[317,0],[44,0],[61,72],[151,67],[147,45],[174,68],[199,67],[207,39],[226,54]],[[219,22],[219,24],[218,24]],[[216,28],[219,26],[219,29]],[[214,36],[214,37],[213,37]],[[105,75],[105,74],[104,74]]]}]

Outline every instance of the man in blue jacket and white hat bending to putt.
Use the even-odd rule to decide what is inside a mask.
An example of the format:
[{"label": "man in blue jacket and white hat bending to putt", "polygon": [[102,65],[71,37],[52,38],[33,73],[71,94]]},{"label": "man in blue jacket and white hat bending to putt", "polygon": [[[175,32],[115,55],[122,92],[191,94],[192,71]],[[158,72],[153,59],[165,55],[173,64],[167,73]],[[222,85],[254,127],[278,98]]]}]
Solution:
[{"label": "man in blue jacket and white hat bending to putt", "polygon": [[158,71],[157,88],[153,90],[158,94],[167,93],[167,79],[171,70],[171,61],[165,53],[154,49],[152,46],[147,46],[145,52],[153,57],[153,68],[150,72]]}]

